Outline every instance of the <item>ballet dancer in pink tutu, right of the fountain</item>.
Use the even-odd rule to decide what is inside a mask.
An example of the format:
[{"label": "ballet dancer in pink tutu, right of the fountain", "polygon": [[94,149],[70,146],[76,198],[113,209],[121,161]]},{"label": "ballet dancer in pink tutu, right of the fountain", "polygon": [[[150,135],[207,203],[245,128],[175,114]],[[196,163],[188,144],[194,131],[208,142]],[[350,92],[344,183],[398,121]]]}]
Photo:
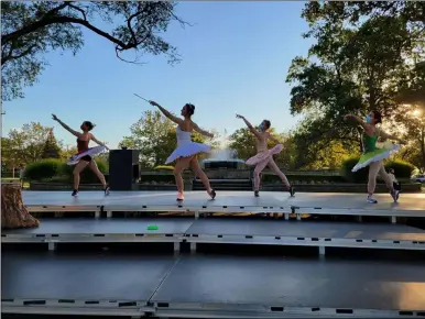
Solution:
[{"label": "ballet dancer in pink tutu, right of the fountain", "polygon": [[[263,120],[259,127],[259,130],[255,130],[252,124],[242,116],[237,114],[236,116],[238,119],[242,119],[243,122],[247,124],[248,129],[251,131],[252,134],[255,135],[257,138],[257,155],[249,158],[246,163],[248,165],[255,165],[254,169],[254,196],[259,197],[259,191],[260,191],[260,182],[261,177],[260,174],[261,172],[265,168],[265,166],[269,166],[270,169],[274,172],[281,179],[282,183],[286,186],[287,191],[290,191],[291,197],[295,195],[295,189],[293,186],[291,186],[290,182],[287,180],[285,174],[279,169],[276,163],[274,163],[273,155],[279,154],[282,152],[282,144],[270,133],[268,130],[270,129],[270,121],[269,120]],[[268,150],[268,140],[272,140],[275,142],[277,145],[274,146],[271,150]]]}]

